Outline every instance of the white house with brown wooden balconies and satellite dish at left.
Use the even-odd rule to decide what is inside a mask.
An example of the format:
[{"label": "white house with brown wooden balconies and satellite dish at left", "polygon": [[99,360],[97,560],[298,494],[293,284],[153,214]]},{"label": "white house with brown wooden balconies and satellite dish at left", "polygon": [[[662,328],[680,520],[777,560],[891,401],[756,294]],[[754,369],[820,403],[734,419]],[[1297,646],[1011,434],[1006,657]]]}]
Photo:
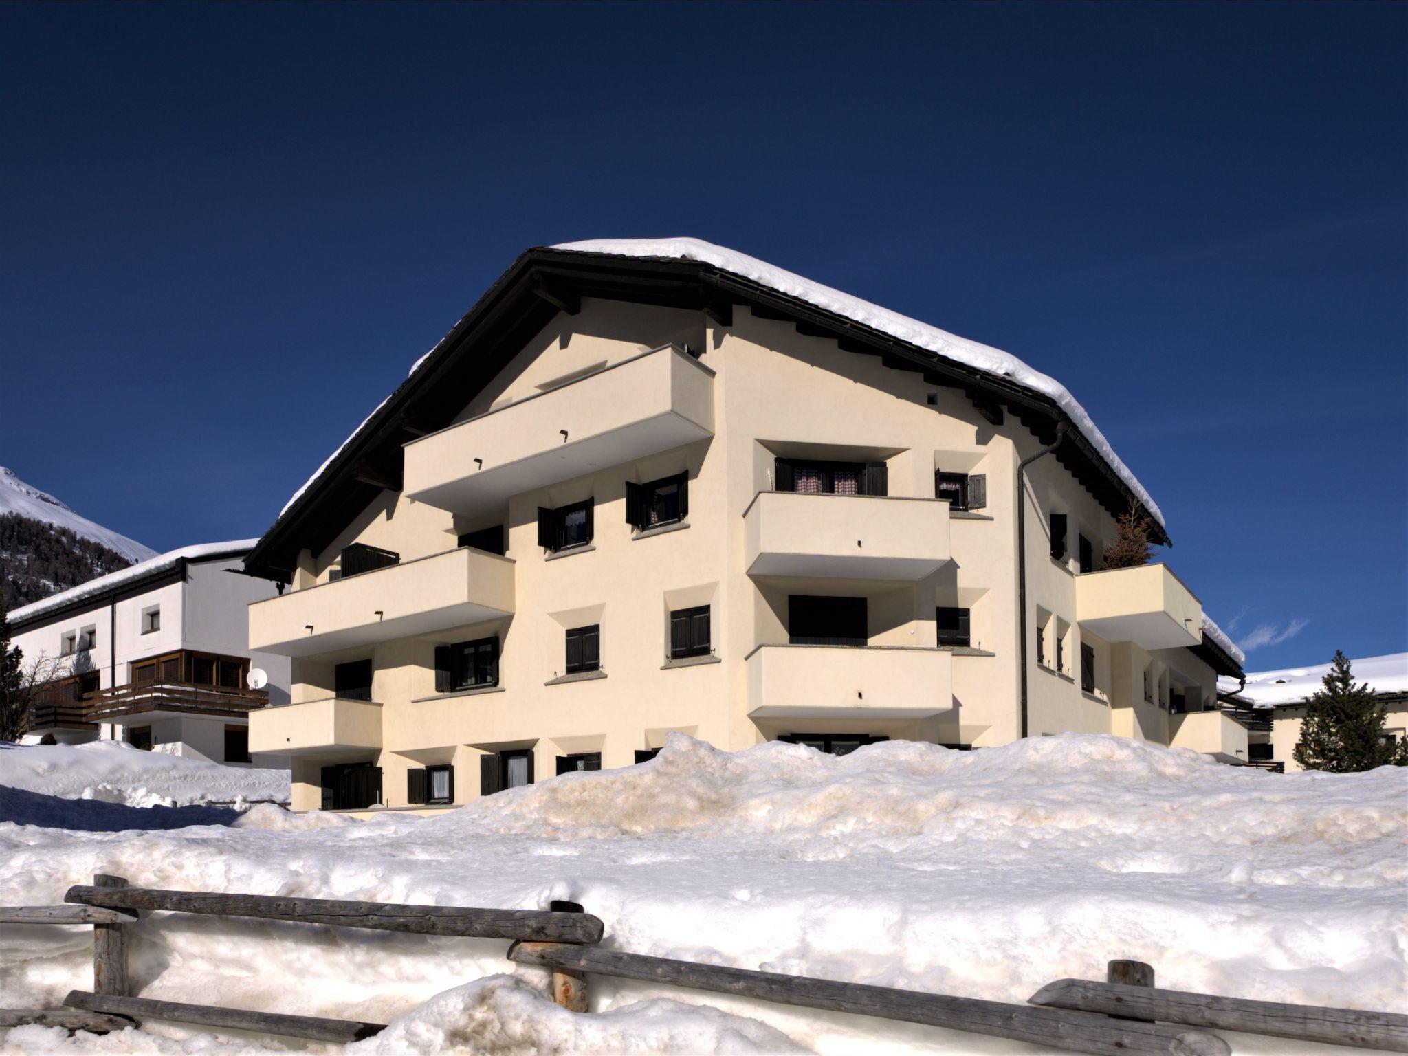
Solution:
[{"label": "white house with brown wooden balconies and satellite dish at left", "polygon": [[[275,593],[244,574],[252,545],[186,546],[10,612],[25,669],[41,663],[55,676],[25,743],[103,738],[252,765],[249,712],[289,701],[289,659],[246,645],[245,607]],[[249,687],[252,667],[263,689]]]}]

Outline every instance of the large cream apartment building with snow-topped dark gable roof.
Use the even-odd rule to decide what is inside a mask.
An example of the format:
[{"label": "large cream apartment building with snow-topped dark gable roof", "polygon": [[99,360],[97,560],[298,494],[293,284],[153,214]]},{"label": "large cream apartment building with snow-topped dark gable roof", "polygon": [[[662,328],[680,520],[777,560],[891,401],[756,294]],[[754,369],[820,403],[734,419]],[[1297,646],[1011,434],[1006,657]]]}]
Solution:
[{"label": "large cream apartment building with snow-topped dark gable roof", "polygon": [[[1018,463],[1025,614],[1018,615]],[[294,807],[458,804],[672,731],[842,753],[1063,731],[1246,758],[1240,653],[1052,379],[693,239],[532,249],[246,559]],[[1025,665],[1021,635],[1026,634]],[[1028,693],[1022,694],[1025,684]]]}]

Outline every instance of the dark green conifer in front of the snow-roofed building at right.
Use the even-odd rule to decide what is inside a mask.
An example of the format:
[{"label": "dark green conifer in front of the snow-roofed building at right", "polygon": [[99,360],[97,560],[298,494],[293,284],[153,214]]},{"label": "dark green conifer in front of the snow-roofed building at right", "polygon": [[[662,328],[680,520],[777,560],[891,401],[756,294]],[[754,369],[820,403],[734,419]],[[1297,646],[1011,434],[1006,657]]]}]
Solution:
[{"label": "dark green conifer in front of the snow-roofed building at right", "polygon": [[1339,649],[1335,662],[1305,701],[1301,739],[1293,752],[1304,770],[1359,773],[1377,766],[1408,766],[1408,742],[1384,741],[1387,708],[1367,683],[1354,684]]}]

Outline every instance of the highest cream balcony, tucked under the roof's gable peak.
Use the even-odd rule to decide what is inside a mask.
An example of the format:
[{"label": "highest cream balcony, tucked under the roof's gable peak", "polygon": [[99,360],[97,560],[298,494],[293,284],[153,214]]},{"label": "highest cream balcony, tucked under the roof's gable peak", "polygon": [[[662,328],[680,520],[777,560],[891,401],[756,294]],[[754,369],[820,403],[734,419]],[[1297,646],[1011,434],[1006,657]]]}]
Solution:
[{"label": "highest cream balcony, tucked under the roof's gable peak", "polygon": [[673,345],[406,445],[406,491],[455,514],[714,435],[714,372]]}]

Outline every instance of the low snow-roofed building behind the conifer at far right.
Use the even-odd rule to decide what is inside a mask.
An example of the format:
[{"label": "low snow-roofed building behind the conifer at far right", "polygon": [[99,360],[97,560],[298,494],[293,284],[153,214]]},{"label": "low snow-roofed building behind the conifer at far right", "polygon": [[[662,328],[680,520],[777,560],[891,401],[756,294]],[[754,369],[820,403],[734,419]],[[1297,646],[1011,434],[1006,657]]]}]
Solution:
[{"label": "low snow-roofed building behind the conifer at far right", "polygon": [[[1246,686],[1240,690],[1231,684],[1232,680],[1224,681],[1225,690],[1235,691],[1231,697],[1233,703],[1270,718],[1269,731],[1260,736],[1253,735],[1253,762],[1286,773],[1301,769],[1293,753],[1301,741],[1305,700],[1321,689],[1331,666],[1322,663],[1315,667],[1256,672],[1246,676]],[[1366,656],[1350,660],[1349,666],[1354,681],[1367,684],[1384,703],[1384,735],[1395,742],[1402,741],[1408,731],[1408,653]],[[1229,696],[1224,693],[1224,697]]]}]

